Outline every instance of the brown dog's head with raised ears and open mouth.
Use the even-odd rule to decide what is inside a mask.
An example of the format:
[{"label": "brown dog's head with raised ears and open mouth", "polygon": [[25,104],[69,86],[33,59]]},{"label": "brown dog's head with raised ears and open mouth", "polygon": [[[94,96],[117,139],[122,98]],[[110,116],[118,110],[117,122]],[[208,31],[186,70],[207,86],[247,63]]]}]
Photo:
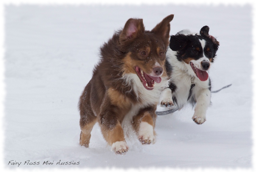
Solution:
[{"label": "brown dog's head with raised ears and open mouth", "polygon": [[170,21],[164,18],[151,31],[145,31],[142,19],[130,18],[120,32],[119,49],[126,53],[123,59],[124,74],[137,74],[147,90],[153,90],[155,82],[166,75],[165,53],[169,46]]}]

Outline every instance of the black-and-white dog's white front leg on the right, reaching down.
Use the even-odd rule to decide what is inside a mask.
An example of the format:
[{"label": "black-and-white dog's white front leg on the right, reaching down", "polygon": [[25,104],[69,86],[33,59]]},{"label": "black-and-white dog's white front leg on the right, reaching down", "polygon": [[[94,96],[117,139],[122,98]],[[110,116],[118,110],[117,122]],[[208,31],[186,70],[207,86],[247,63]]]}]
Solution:
[{"label": "black-and-white dog's white front leg on the right, reaching down", "polygon": [[206,121],[206,110],[211,102],[211,91],[209,89],[201,90],[195,98],[196,107],[192,119],[196,124],[203,124]]}]

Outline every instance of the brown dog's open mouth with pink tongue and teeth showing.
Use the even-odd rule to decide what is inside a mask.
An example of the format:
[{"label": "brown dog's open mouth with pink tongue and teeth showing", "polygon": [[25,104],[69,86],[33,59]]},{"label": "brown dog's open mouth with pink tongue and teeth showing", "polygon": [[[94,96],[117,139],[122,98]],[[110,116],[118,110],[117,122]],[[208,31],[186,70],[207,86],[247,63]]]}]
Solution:
[{"label": "brown dog's open mouth with pink tongue and teeth showing", "polygon": [[137,72],[137,75],[140,78],[140,81],[142,82],[143,86],[147,90],[153,90],[154,86],[155,86],[155,82],[160,83],[162,80],[161,77],[151,76],[151,75],[146,74],[138,66],[135,66],[135,70]]}]

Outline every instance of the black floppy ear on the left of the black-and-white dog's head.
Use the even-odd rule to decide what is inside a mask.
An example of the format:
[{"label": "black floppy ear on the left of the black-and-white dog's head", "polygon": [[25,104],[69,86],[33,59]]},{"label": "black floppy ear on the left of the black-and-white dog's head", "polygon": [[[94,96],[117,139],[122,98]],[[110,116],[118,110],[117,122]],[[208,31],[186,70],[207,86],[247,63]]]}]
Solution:
[{"label": "black floppy ear on the left of the black-and-white dog's head", "polygon": [[183,35],[183,34],[178,34],[178,35],[172,35],[170,39],[170,48],[172,51],[180,51],[186,45],[189,43],[189,36],[188,35]]}]

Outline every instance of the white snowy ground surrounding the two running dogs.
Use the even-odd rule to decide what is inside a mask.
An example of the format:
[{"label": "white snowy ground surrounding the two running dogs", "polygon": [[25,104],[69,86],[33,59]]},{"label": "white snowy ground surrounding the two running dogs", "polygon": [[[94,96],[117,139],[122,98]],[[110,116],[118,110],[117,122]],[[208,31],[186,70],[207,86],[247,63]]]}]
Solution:
[{"label": "white snowy ground surrounding the two running dogs", "polygon": [[[252,168],[249,5],[9,5],[4,10],[5,168]],[[143,18],[151,30],[169,14],[175,14],[171,34],[210,27],[220,41],[210,71],[212,90],[233,85],[212,94],[203,125],[193,122],[190,106],[159,116],[154,145],[128,140],[126,155],[113,154],[95,125],[90,148],[79,146],[78,98],[91,79],[99,47],[129,18]],[[40,163],[24,165],[28,160]],[[58,165],[60,160],[79,165]]]}]

